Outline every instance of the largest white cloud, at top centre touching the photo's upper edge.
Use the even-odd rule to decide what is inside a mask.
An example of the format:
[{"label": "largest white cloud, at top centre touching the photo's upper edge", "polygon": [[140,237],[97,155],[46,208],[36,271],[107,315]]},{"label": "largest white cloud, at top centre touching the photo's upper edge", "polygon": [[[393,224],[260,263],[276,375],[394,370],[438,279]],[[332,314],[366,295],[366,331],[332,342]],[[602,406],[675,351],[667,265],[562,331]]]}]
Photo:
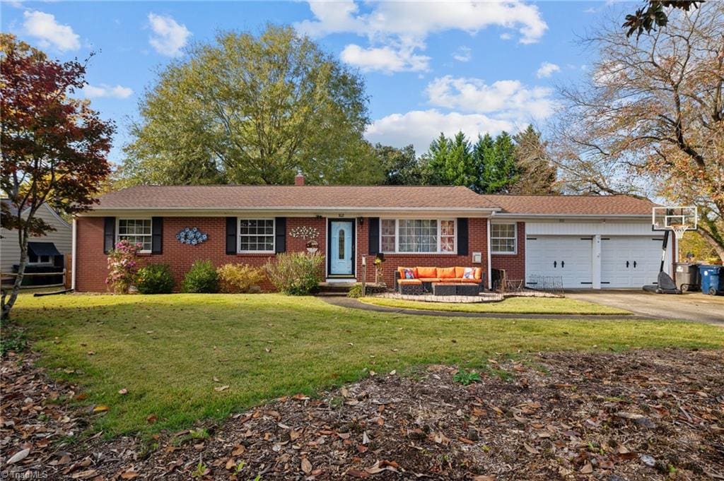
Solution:
[{"label": "largest white cloud, at top centre touching the photo's upper edge", "polygon": [[[538,7],[518,1],[383,1],[364,5],[367,12],[360,12],[360,4],[353,0],[310,1],[314,20],[298,22],[295,28],[312,37],[333,33],[364,36],[370,48],[348,45],[345,47],[348,56],[358,61],[364,56],[367,69],[377,69],[374,66],[379,64],[386,72],[393,71],[390,67],[399,65],[400,61],[407,67],[397,67],[394,71],[422,69],[421,65],[426,65],[429,59],[416,51],[424,50],[426,38],[432,33],[463,30],[474,35],[495,25],[516,30],[520,43],[535,43],[548,28]],[[384,61],[380,60],[383,56]]]}]

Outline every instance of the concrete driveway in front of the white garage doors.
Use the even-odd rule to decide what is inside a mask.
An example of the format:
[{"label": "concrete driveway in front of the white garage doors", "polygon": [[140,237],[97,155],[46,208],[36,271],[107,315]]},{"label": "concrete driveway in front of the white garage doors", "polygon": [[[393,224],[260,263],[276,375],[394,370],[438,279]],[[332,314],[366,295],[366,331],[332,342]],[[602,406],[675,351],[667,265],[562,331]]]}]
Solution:
[{"label": "concrete driveway in front of the white garage doors", "polygon": [[652,318],[694,320],[724,327],[724,296],[708,296],[701,292],[653,294],[619,289],[568,291],[565,296],[620,307]]}]

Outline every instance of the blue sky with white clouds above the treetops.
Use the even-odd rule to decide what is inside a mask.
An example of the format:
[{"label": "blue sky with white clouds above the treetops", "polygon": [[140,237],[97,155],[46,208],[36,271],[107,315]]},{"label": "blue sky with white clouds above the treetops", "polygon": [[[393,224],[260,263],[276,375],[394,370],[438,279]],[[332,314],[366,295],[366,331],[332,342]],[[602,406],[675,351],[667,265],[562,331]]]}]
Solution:
[{"label": "blue sky with white clouds above the treetops", "polygon": [[555,85],[586,75],[595,59],[581,35],[618,2],[132,2],[4,1],[1,29],[67,60],[91,51],[83,95],[117,122],[111,160],[122,158],[128,119],[156,72],[219,30],[258,33],[293,25],[366,79],[373,142],[418,153],[443,131],[471,137],[544,127]]}]

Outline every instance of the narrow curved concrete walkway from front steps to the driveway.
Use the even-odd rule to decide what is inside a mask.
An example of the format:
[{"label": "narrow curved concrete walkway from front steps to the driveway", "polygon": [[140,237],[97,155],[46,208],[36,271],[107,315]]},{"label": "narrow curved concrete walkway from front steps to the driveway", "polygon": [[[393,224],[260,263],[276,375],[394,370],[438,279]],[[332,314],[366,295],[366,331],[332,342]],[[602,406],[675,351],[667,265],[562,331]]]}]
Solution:
[{"label": "narrow curved concrete walkway from front steps to the driveway", "polygon": [[609,314],[503,314],[501,312],[452,312],[439,310],[400,309],[399,307],[377,306],[360,302],[358,299],[342,296],[324,296],[320,299],[329,304],[372,312],[387,312],[404,315],[431,315],[441,318],[487,318],[487,319],[584,319],[584,320],[652,320],[645,315]]}]

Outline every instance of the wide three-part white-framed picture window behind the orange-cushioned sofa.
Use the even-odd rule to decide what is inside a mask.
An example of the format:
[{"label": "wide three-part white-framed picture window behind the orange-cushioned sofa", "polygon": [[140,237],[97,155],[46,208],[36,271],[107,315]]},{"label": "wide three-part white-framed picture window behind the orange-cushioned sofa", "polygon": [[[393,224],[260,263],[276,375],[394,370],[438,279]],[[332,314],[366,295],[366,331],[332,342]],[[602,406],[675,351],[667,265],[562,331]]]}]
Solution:
[{"label": "wide three-part white-framed picture window behind the orange-cushioned sofa", "polygon": [[454,254],[455,219],[382,219],[379,246],[382,252]]}]

